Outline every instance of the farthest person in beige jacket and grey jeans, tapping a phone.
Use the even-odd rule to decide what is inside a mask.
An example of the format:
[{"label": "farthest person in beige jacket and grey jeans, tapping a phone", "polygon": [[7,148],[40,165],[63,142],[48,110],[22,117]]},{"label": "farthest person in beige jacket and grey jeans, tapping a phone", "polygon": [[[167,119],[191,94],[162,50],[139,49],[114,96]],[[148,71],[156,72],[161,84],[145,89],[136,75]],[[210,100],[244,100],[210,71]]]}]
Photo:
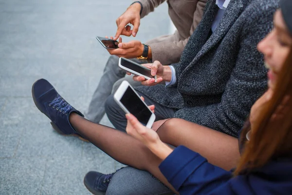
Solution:
[{"label": "farthest person in beige jacket and grey jeans, tapping a phone", "polygon": [[[131,4],[126,12],[116,21],[118,29],[115,40],[120,35],[136,37],[140,19],[153,12],[154,8],[164,1],[139,0]],[[125,78],[126,75],[126,72],[118,67],[119,57],[128,58],[137,63],[147,62],[147,60],[136,59],[141,56],[146,57],[148,61],[159,60],[163,64],[178,62],[182,56],[185,44],[201,21],[206,2],[207,0],[167,1],[169,17],[177,28],[173,35],[164,35],[151,39],[146,41],[145,46],[139,40],[132,40],[127,43],[120,43],[119,49],[108,50],[111,56],[106,63],[104,74],[92,95],[88,110],[85,112],[85,117],[92,122],[99,123],[104,116],[106,99],[112,91],[114,92],[117,89],[123,81],[122,78]],[[127,25],[128,23],[133,24],[132,30]],[[134,82],[130,77],[125,79],[132,86],[141,85],[140,82]]]}]

